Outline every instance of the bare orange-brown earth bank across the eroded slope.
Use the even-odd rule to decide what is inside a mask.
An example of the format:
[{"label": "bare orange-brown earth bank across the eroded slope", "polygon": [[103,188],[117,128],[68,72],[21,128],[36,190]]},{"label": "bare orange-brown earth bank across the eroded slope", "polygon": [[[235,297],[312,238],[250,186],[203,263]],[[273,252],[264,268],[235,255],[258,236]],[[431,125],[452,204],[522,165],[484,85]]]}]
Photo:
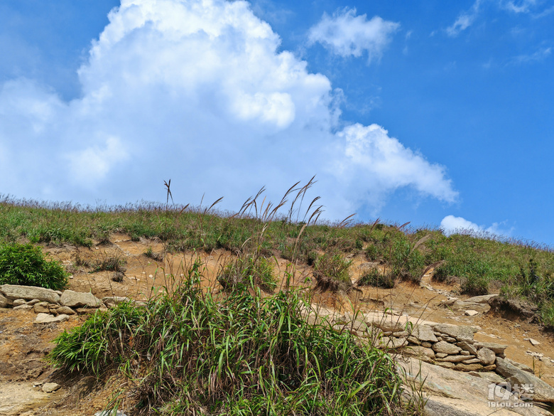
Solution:
[{"label": "bare orange-brown earth bank across the eroded slope", "polygon": [[[146,300],[159,290],[178,284],[197,258],[205,267],[202,284],[217,290],[218,272],[234,258],[225,250],[169,254],[160,241],[132,241],[123,234],[112,235],[110,241],[91,248],[64,245],[43,249],[72,273],[67,289],[92,292],[99,299],[116,296]],[[279,287],[285,284],[283,279],[286,270],[290,271],[290,262],[275,254]],[[116,275],[113,270],[95,271],[104,260],[110,259],[119,262],[122,274]],[[361,255],[350,260],[352,282],[367,267],[380,267],[367,263]],[[354,287],[349,292],[316,289],[310,279],[311,269],[305,265],[296,265],[294,276],[293,286],[310,289],[313,302],[337,316],[352,313],[353,309],[362,313],[389,310],[398,316],[408,314],[422,321],[477,327],[475,341],[507,345],[506,358],[525,364],[538,378],[554,386],[552,333],[543,331],[523,315],[511,314],[506,319],[505,314],[490,310],[488,304],[469,307],[464,303],[468,296],[460,296],[456,286],[432,281],[432,272],[425,274],[420,284],[399,282],[393,289]],[[54,346],[53,339],[64,330],[82,324],[93,311],[80,309],[66,321],[36,324],[37,315],[32,309],[0,309],[0,415],[92,416],[105,409],[114,392],[127,380],[108,378],[100,383],[86,375],[67,378],[44,360]],[[45,393],[46,383],[57,383],[58,388]],[[121,404],[125,410],[125,398]],[[433,414],[431,410],[430,414]]]}]

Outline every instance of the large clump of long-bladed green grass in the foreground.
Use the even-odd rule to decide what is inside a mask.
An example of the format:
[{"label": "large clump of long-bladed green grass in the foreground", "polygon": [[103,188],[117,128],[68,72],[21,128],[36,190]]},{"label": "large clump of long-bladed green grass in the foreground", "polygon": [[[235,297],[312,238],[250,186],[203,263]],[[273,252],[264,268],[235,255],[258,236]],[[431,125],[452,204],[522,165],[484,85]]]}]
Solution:
[{"label": "large clump of long-bladed green grass in the foreground", "polygon": [[308,324],[309,306],[296,292],[262,296],[252,280],[216,298],[195,263],[175,292],[59,336],[50,361],[125,373],[141,415],[406,414],[391,357],[326,321]]}]

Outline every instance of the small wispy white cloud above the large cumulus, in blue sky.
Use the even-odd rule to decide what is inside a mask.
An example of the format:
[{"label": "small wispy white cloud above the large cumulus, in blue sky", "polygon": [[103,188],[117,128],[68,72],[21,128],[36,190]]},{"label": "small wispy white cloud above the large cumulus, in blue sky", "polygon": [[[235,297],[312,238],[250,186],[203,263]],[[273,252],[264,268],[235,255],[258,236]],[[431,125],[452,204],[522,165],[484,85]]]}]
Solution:
[{"label": "small wispy white cloud above the large cumulus, in blue sky", "polygon": [[324,14],[321,21],[310,28],[308,43],[321,43],[325,48],[343,57],[360,57],[367,60],[381,58],[399,23],[385,21],[379,16],[367,20],[367,15],[356,16],[356,9],[342,9],[333,16]]}]

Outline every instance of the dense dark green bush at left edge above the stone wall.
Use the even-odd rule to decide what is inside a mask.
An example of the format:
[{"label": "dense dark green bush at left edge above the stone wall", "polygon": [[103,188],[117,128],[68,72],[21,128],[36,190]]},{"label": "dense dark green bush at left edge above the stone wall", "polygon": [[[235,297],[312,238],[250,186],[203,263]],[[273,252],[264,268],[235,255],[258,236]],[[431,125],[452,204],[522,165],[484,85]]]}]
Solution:
[{"label": "dense dark green bush at left edge above the stone wall", "polygon": [[60,290],[68,274],[60,262],[48,261],[40,247],[8,244],[0,247],[0,284],[22,284]]}]

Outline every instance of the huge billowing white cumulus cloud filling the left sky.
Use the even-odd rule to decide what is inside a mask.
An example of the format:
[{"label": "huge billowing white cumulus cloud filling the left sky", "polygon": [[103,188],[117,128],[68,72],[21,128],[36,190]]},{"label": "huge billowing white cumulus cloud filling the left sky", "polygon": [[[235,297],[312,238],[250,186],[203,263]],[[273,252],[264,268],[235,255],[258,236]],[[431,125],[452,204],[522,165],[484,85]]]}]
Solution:
[{"label": "huge billowing white cumulus cloud filling the left sky", "polygon": [[456,198],[444,168],[386,130],[344,127],[340,91],[280,42],[245,1],[122,0],[78,71],[79,98],[0,85],[0,192],[125,203],[161,199],[171,178],[176,201],[207,192],[238,209],[261,186],[276,200],[317,174],[330,218],[401,187]]}]

